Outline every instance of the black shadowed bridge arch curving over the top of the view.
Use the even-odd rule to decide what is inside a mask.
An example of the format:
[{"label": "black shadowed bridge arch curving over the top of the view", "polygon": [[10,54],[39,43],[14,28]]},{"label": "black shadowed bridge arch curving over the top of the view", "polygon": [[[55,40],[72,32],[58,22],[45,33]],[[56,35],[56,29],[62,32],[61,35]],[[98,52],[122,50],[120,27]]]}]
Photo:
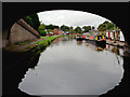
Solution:
[{"label": "black shadowed bridge arch curving over the top of the view", "polygon": [[83,11],[100,15],[105,17],[112,22],[114,22],[123,32],[125,39],[127,43],[130,45],[130,34],[129,34],[129,27],[128,27],[128,11],[129,11],[129,3],[117,3],[117,2],[21,2],[21,3],[3,3],[3,12],[2,12],[2,26],[3,32],[8,30],[8,36],[10,33],[10,28],[12,25],[18,20],[21,17],[43,12],[43,11],[51,11],[51,10],[76,10],[76,11]]}]

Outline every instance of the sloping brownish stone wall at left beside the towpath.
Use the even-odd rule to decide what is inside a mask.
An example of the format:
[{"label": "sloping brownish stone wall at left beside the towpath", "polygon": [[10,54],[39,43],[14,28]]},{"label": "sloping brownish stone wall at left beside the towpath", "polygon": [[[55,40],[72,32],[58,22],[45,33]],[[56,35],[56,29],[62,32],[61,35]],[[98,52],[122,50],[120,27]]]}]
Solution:
[{"label": "sloping brownish stone wall at left beside the towpath", "polygon": [[24,19],[17,20],[11,28],[9,41],[11,44],[30,41],[40,38],[32,27],[30,27]]}]

